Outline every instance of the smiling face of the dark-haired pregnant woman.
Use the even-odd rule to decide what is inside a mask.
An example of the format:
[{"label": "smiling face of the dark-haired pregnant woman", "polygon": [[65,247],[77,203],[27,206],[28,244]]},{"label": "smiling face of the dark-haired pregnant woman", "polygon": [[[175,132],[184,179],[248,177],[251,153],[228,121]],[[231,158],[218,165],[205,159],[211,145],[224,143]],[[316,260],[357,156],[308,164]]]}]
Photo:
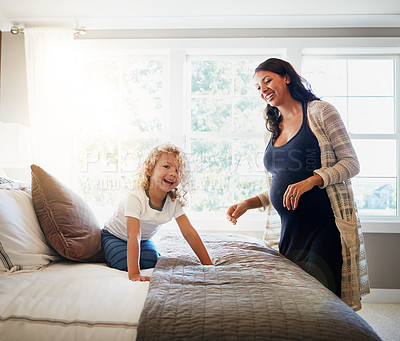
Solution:
[{"label": "smiling face of the dark-haired pregnant woman", "polygon": [[290,83],[288,75],[281,76],[270,71],[257,71],[253,79],[261,98],[273,107],[279,107],[291,97],[287,87]]}]

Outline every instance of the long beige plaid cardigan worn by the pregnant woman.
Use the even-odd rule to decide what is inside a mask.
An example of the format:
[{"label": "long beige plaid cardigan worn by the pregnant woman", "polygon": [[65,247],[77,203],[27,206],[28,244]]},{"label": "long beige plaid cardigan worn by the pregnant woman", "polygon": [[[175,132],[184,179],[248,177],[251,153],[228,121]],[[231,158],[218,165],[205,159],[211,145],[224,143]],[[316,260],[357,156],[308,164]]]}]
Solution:
[{"label": "long beige plaid cardigan worn by the pregnant woman", "polygon": [[[350,137],[339,113],[329,103],[313,101],[307,107],[311,131],[321,149],[321,168],[314,171],[323,179],[340,231],[342,243],[342,300],[354,310],[361,309],[361,296],[369,293],[369,280],[363,234],[355,206],[350,178],[359,172],[359,163]],[[271,133],[265,136],[269,142]],[[271,177],[267,172],[268,186]],[[280,239],[280,218],[270,205],[269,190],[258,195],[268,209],[265,243],[277,249]]]}]

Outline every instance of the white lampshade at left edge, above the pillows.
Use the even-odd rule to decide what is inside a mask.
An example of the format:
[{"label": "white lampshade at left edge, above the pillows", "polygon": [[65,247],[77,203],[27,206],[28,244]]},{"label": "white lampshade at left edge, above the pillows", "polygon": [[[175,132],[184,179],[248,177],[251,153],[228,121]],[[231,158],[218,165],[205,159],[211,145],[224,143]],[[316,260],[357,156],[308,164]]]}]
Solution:
[{"label": "white lampshade at left edge, above the pillows", "polygon": [[0,123],[0,169],[25,168],[31,161],[29,128],[18,123]]}]

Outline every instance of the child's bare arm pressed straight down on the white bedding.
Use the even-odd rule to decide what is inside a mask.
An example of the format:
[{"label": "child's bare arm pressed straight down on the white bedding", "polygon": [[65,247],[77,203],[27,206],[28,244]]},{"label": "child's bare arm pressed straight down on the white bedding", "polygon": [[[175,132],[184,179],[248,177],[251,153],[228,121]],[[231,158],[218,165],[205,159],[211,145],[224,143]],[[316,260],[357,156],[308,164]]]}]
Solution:
[{"label": "child's bare arm pressed straight down on the white bedding", "polygon": [[128,233],[127,255],[128,277],[131,281],[149,281],[149,276],[140,274],[140,221],[137,218],[126,217]]}]

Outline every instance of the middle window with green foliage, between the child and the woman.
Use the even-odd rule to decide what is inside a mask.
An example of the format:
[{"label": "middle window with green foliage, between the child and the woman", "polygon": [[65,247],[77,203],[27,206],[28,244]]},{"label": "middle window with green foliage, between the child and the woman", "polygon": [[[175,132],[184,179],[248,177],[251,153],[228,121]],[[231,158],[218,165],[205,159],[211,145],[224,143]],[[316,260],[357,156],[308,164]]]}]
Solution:
[{"label": "middle window with green foliage, between the child and the woman", "polygon": [[226,212],[235,202],[265,190],[265,123],[252,83],[252,56],[190,56],[188,75],[191,152],[195,190],[193,211]]}]

